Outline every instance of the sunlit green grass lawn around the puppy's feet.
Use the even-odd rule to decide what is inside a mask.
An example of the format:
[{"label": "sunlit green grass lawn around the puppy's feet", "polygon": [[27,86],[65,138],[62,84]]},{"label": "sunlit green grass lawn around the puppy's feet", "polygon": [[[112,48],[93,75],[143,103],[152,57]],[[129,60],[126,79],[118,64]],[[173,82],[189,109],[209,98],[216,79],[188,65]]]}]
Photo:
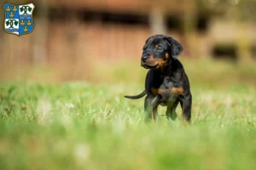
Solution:
[{"label": "sunlit green grass lawn around the puppy's feet", "polygon": [[97,84],[2,82],[1,169],[254,169],[254,63],[184,65],[190,126],[167,121],[165,108],[157,122],[143,122],[143,99],[123,98],[143,90],[139,65],[102,66]]}]

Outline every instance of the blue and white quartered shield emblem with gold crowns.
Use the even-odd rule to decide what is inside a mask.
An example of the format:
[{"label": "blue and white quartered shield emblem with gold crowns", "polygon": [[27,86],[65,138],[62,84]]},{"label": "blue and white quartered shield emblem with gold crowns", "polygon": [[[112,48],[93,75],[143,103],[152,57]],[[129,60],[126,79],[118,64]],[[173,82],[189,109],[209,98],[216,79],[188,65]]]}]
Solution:
[{"label": "blue and white quartered shield emblem with gold crowns", "polygon": [[34,8],[35,5],[33,3],[21,5],[4,3],[4,30],[9,34],[15,34],[17,36],[31,33],[34,29],[32,17]]}]

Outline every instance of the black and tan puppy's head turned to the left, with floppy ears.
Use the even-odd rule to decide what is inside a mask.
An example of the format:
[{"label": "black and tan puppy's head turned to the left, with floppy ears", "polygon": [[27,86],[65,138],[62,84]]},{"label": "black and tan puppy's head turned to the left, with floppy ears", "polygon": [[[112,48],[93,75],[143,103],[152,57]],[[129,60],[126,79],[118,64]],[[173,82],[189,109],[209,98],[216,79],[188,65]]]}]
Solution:
[{"label": "black and tan puppy's head turned to the left, with floppy ears", "polygon": [[172,37],[148,37],[143,47],[141,65],[146,69],[163,69],[172,59],[177,59],[182,51],[181,44]]}]

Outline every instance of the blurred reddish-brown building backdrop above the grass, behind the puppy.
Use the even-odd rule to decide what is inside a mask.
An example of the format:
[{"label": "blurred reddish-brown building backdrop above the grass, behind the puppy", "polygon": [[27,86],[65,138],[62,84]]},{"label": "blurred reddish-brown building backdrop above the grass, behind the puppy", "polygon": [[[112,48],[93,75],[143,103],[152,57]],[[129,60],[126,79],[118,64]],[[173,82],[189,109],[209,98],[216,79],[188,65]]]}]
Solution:
[{"label": "blurred reddish-brown building backdrop above the grass, behind the puppy", "polygon": [[[154,34],[170,35],[183,44],[181,59],[185,63],[193,60],[192,64],[187,63],[191,71],[195,70],[190,74],[204,71],[206,60],[252,65],[256,59],[256,0],[32,3],[36,8],[35,29],[31,34],[17,37],[0,29],[1,81],[31,78],[47,82],[100,82],[108,79],[106,71],[113,65],[126,66],[128,73],[132,68],[143,70],[140,67],[143,44]],[[3,23],[3,10],[0,16]],[[115,71],[119,75],[123,70]],[[121,78],[124,79],[122,74]]]}]

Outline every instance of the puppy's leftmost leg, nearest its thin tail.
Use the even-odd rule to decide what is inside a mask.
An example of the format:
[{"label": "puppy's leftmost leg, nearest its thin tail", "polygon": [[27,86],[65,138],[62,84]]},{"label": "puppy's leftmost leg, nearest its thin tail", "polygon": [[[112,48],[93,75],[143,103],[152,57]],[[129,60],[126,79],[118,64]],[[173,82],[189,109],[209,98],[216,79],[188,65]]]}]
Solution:
[{"label": "puppy's leftmost leg, nearest its thin tail", "polygon": [[157,116],[157,107],[160,104],[160,96],[147,95],[144,102],[144,111],[146,112],[145,122],[150,119],[154,122]]}]

